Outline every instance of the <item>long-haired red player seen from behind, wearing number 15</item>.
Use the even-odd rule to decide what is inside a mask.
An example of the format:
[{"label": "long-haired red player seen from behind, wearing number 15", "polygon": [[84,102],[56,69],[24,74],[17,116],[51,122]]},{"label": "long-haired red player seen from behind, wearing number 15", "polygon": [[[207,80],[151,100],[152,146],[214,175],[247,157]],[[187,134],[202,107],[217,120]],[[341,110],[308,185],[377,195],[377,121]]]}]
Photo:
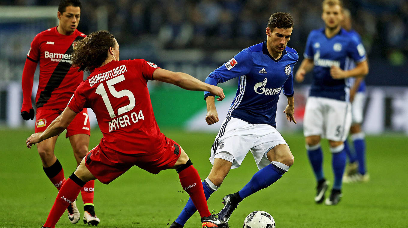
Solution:
[{"label": "long-haired red player seen from behind, wearing number 15", "polygon": [[183,89],[210,90],[224,99],[220,87],[191,75],[160,69],[142,59],[119,61],[119,44],[108,31],[91,33],[75,46],[74,66],[91,71],[75,90],[67,108],[43,133],[31,135],[32,144],[58,135],[85,107],[96,114],[103,137],[60,189],[44,227],[54,228],[64,208],[78,196],[82,186],[98,179],[109,184],[132,166],[157,174],[174,168],[180,184],[197,206],[203,228],[228,227],[208,210],[200,175],[179,144],[164,136],[157,126],[147,81],[159,80]]}]

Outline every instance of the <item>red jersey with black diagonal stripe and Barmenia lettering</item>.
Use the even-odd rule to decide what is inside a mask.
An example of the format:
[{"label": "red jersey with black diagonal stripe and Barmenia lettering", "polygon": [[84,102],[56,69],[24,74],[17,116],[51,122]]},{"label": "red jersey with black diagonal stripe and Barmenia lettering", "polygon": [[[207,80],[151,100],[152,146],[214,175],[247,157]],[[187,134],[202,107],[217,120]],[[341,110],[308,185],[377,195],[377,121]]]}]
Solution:
[{"label": "red jersey with black diagonal stripe and Barmenia lettering", "polygon": [[84,78],[84,73],[78,72],[78,68],[71,68],[71,54],[75,42],[85,36],[78,30],[72,35],[62,35],[57,27],[35,36],[27,58],[33,62],[40,61],[40,80],[35,96],[37,108],[67,106],[69,98]]}]

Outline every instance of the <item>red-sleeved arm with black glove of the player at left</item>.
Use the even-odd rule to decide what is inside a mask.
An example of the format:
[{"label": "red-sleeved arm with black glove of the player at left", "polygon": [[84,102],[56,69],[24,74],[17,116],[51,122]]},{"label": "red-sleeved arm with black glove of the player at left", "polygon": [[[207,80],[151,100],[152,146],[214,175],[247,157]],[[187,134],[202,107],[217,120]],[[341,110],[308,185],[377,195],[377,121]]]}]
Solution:
[{"label": "red-sleeved arm with black glove of the player at left", "polygon": [[33,90],[33,80],[36,68],[37,63],[27,58],[24,64],[23,75],[21,78],[21,87],[23,91],[23,104],[21,106],[21,116],[23,117],[24,120],[34,119],[34,109],[31,104],[31,92]]}]

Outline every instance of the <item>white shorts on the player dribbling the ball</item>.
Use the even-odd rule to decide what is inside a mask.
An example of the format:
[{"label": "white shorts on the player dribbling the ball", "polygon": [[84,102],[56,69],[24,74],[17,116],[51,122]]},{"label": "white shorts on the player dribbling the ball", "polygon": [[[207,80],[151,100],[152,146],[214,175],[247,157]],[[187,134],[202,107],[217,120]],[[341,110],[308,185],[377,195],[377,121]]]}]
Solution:
[{"label": "white shorts on the player dribbling the ball", "polygon": [[271,164],[266,153],[279,144],[288,145],[279,131],[269,124],[249,124],[244,120],[227,117],[211,147],[210,162],[222,158],[238,168],[251,151],[258,169]]}]

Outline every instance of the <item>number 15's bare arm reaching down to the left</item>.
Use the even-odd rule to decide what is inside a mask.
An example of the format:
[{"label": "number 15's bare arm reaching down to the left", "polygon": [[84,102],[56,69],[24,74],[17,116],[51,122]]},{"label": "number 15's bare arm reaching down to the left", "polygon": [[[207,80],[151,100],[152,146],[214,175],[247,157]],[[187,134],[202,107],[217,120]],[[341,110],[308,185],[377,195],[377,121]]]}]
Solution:
[{"label": "number 15's bare arm reaching down to the left", "polygon": [[32,134],[30,137],[27,138],[26,144],[28,148],[31,148],[32,145],[42,142],[45,139],[49,139],[54,137],[55,135],[59,135],[68,125],[72,122],[74,117],[78,113],[72,111],[71,108],[67,107],[64,111],[59,115],[51,124],[50,126],[45,129],[44,132],[39,132]]}]

